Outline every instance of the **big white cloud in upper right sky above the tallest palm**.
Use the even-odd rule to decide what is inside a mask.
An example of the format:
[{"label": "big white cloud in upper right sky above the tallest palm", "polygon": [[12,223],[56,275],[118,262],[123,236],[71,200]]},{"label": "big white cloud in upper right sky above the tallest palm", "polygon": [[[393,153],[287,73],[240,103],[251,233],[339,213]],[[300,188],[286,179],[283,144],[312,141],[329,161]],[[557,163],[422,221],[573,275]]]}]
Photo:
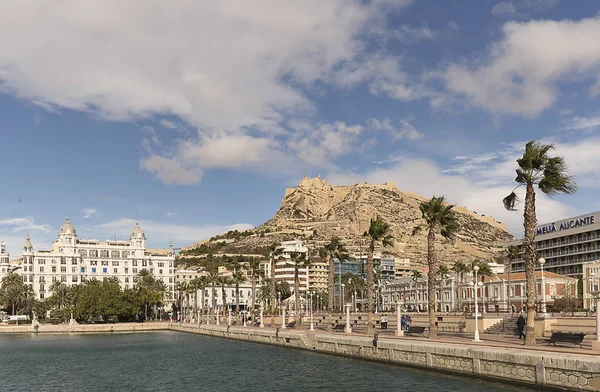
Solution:
[{"label": "big white cloud in upper right sky above the tallest palm", "polygon": [[598,17],[508,22],[503,34],[483,58],[444,71],[450,92],[494,114],[533,117],[556,101],[560,81],[595,79],[600,72]]}]

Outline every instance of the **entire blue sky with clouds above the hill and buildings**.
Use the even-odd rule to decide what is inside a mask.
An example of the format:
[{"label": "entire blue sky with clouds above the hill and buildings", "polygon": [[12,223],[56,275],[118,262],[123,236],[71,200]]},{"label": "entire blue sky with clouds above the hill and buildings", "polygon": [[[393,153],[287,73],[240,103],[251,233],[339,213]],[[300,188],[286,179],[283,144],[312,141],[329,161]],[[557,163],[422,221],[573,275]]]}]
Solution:
[{"label": "entire blue sky with clouds above the hill and buildings", "polygon": [[394,182],[505,223],[532,139],[600,210],[593,0],[0,3],[0,240],[190,245],[260,225],[307,173]]}]

